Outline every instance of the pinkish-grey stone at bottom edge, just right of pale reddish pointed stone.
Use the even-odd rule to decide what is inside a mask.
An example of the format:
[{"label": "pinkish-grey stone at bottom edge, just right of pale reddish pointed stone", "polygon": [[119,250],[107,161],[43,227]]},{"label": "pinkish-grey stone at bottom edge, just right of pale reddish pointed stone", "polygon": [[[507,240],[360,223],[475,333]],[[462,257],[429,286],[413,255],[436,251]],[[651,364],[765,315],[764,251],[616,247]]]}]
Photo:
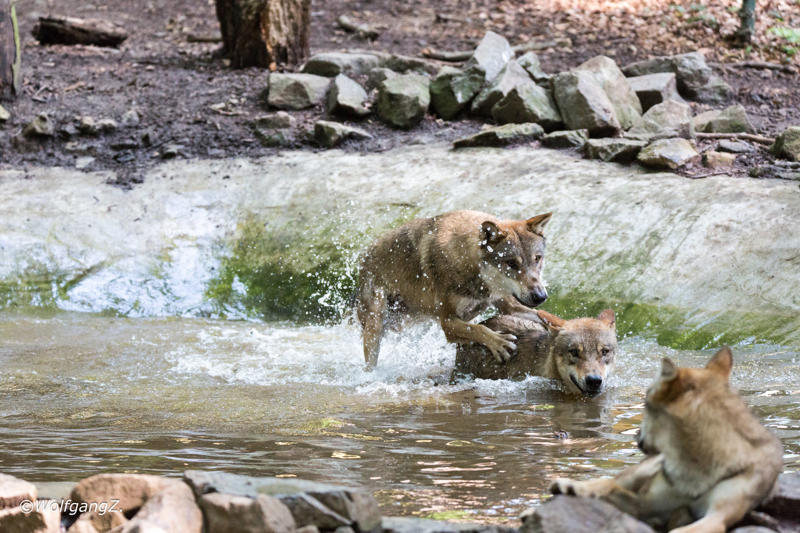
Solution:
[{"label": "pinkish-grey stone at bottom edge, just right of pale reddish pointed stone", "polygon": [[274,496],[255,498],[212,492],[199,500],[207,533],[290,533],[295,528],[289,508]]}]

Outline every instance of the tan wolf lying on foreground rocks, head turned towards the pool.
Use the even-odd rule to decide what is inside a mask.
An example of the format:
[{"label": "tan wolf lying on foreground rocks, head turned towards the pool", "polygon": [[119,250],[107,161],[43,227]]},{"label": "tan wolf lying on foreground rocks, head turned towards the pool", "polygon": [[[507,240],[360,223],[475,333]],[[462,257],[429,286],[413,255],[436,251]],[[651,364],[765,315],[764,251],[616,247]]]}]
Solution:
[{"label": "tan wolf lying on foreground rocks, head turned towards the pool", "polygon": [[649,457],[614,479],[555,479],[550,491],[604,499],[674,533],[725,533],[770,498],[783,467],[780,441],[730,389],[732,366],[730,348],[706,368],[662,360],[638,436]]}]

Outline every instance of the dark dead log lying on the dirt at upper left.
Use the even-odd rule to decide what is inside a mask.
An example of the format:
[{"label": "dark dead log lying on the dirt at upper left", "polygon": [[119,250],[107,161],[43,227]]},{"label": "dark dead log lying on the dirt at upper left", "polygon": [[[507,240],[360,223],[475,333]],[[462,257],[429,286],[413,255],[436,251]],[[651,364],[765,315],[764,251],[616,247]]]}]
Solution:
[{"label": "dark dead log lying on the dirt at upper left", "polygon": [[43,45],[119,46],[128,32],[102,18],[39,17],[31,32]]}]

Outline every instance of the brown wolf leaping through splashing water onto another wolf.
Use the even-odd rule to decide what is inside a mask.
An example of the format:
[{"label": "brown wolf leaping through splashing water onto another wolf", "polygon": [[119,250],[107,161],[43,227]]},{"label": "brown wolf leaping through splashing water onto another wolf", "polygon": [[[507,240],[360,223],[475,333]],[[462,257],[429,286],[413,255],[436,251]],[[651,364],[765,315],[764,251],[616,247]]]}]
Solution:
[{"label": "brown wolf leaping through splashing water onto another wolf", "polygon": [[362,259],[356,294],[367,368],[378,364],[384,328],[399,330],[411,315],[437,320],[449,342],[483,344],[508,360],[515,337],[470,320],[490,305],[524,315],[546,300],[543,231],[551,216],[500,221],[451,211],[378,237]]}]

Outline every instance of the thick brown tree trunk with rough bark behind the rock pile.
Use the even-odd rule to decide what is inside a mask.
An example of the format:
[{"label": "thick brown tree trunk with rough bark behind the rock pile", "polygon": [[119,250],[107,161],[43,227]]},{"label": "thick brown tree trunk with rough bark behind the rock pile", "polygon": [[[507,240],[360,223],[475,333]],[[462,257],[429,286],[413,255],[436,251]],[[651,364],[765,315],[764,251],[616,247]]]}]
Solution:
[{"label": "thick brown tree trunk with rough bark behind the rock pile", "polygon": [[243,69],[296,65],[310,55],[311,0],[217,0],[223,53]]}]

